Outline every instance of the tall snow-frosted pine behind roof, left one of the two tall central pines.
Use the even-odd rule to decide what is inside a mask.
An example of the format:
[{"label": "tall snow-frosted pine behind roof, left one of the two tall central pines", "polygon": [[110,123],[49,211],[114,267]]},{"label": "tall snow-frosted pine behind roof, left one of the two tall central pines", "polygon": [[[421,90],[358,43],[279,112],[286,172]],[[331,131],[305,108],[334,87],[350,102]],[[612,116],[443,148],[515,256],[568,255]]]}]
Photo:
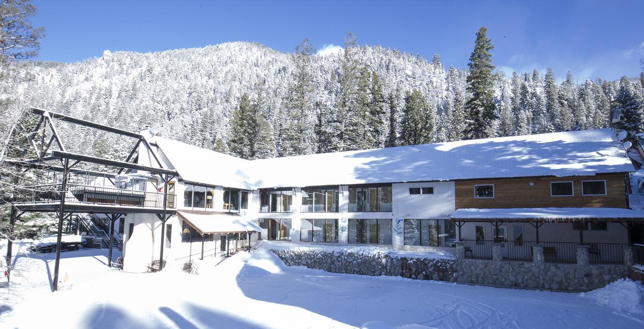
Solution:
[{"label": "tall snow-frosted pine behind roof, left one of the two tall central pines", "polygon": [[314,132],[312,125],[311,95],[314,91],[311,75],[311,56],[313,47],[304,39],[296,46],[293,54],[295,71],[294,84],[290,86],[285,113],[287,113],[287,129],[282,140],[282,155],[305,155],[314,152]]}]

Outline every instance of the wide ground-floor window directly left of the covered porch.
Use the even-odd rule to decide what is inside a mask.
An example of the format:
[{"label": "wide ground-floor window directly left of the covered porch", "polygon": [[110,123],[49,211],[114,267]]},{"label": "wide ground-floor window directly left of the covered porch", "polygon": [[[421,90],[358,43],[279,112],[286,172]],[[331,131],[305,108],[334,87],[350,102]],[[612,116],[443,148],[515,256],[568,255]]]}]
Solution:
[{"label": "wide ground-floor window directly left of the covered porch", "polygon": [[404,245],[456,247],[456,223],[451,220],[404,220]]}]

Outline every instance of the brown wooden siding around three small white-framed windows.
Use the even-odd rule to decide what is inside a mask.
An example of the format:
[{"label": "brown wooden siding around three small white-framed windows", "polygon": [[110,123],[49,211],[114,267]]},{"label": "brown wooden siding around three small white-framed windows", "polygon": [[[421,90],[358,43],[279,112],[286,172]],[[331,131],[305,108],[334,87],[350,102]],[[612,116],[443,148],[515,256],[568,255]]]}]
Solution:
[{"label": "brown wooden siding around three small white-framed windows", "polygon": [[[627,208],[624,174],[596,176],[498,178],[456,182],[456,209],[611,207]],[[606,195],[582,195],[582,181],[606,180]],[[573,182],[573,196],[551,196],[550,182]],[[534,182],[535,185],[530,185]],[[474,185],[494,184],[494,198],[475,198]]]}]

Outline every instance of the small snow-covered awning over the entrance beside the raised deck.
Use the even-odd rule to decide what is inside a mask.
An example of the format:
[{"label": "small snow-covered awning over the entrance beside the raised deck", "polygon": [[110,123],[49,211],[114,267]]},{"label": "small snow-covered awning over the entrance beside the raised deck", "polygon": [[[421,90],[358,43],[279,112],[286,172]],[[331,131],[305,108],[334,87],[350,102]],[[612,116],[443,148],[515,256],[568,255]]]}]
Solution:
[{"label": "small snow-covered awning over the entrance beside the raised deck", "polygon": [[235,212],[177,211],[200,234],[260,232],[261,227]]}]

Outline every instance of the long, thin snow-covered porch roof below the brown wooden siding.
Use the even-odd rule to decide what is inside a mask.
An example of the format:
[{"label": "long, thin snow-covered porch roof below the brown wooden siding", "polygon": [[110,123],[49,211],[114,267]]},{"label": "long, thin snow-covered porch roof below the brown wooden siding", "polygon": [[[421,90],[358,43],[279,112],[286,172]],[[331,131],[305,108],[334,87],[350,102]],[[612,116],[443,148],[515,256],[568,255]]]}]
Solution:
[{"label": "long, thin snow-covered porch roof below the brown wooden siding", "polygon": [[452,220],[460,221],[642,221],[644,211],[624,208],[504,208],[457,209]]}]

